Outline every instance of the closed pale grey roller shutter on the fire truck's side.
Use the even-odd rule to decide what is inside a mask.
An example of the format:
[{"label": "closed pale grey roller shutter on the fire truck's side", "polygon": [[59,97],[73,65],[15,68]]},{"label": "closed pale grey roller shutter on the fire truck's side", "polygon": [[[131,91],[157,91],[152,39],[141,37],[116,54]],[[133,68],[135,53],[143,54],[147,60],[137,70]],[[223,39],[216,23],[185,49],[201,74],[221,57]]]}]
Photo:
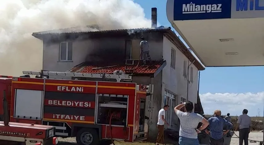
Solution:
[{"label": "closed pale grey roller shutter on the fire truck's side", "polygon": [[16,118],[41,119],[43,91],[15,90],[15,113]]}]

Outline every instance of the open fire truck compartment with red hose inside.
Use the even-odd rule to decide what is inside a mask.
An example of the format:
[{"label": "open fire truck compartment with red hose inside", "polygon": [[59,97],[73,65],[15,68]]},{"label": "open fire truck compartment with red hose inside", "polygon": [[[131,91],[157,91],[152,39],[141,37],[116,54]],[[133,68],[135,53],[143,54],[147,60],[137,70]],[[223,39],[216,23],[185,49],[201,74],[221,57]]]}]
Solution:
[{"label": "open fire truck compartment with red hose inside", "polygon": [[97,124],[126,126],[128,109],[128,95],[98,94]]}]

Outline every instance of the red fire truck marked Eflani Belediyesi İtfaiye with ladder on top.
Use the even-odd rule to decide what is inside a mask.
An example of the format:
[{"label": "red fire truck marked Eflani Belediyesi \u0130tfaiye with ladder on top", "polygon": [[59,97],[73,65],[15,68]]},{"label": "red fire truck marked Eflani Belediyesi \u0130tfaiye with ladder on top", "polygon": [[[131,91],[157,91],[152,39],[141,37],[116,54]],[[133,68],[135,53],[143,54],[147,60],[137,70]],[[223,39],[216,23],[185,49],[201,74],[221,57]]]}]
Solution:
[{"label": "red fire truck marked Eflani Belediyesi \u0130tfaiye with ladder on top", "polygon": [[[120,82],[132,80],[122,71],[82,74],[41,70],[23,74],[12,78],[10,121],[55,126],[56,136],[76,137],[79,145],[147,139],[148,125],[153,123],[153,84]],[[56,76],[71,79],[54,79]],[[89,78],[116,81],[87,81]]]}]

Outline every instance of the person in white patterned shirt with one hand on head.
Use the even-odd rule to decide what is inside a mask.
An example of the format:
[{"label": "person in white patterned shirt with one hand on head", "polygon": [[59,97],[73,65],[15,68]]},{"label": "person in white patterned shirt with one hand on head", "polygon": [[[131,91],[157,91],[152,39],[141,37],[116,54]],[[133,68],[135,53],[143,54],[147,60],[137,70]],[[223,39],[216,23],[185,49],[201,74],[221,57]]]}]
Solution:
[{"label": "person in white patterned shirt with one hand on head", "polygon": [[[182,112],[181,108],[185,107],[186,112]],[[193,103],[187,102],[177,105],[174,111],[180,119],[180,145],[199,145],[198,133],[204,130],[208,125],[208,121],[201,116],[193,112]],[[203,123],[200,128],[197,129],[199,123]]]}]

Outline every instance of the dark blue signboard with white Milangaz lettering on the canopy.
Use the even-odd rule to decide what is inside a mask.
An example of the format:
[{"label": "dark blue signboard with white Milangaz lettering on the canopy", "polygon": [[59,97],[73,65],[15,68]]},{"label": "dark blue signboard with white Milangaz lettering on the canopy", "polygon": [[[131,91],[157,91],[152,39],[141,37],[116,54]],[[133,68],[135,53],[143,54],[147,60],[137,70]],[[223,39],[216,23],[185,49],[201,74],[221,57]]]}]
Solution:
[{"label": "dark blue signboard with white Milangaz lettering on the canopy", "polygon": [[174,20],[231,18],[231,0],[174,0]]}]

